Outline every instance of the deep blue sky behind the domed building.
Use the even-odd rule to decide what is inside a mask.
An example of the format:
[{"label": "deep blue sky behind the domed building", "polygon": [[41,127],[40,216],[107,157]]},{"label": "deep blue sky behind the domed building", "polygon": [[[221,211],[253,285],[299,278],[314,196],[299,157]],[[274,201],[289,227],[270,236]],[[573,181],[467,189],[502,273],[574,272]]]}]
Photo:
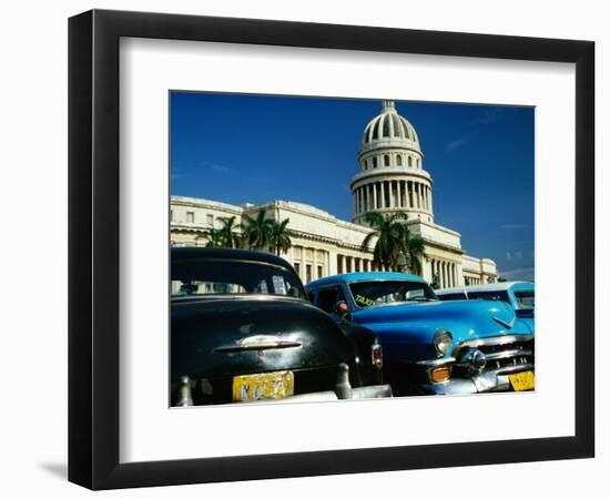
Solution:
[{"label": "deep blue sky behind the domed building", "polygon": [[[349,181],[379,101],[172,92],[171,193],[298,201],[352,220]],[[435,222],[508,278],[533,279],[533,109],[397,102],[434,180]]]}]

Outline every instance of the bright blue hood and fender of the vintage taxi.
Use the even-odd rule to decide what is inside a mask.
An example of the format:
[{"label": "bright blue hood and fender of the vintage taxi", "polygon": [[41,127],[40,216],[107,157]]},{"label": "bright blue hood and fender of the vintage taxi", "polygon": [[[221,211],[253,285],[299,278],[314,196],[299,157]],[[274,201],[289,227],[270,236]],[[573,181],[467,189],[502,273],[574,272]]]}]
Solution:
[{"label": "bright blue hood and fender of the vintage taxi", "polygon": [[[464,301],[378,305],[352,314],[355,323],[373,329],[382,344],[394,348],[388,354],[401,358],[436,356],[431,342],[435,333],[451,333],[458,343],[507,334],[531,334],[515,310],[504,302]],[[398,352],[396,345],[405,348]],[[393,350],[393,352],[390,352]]]}]

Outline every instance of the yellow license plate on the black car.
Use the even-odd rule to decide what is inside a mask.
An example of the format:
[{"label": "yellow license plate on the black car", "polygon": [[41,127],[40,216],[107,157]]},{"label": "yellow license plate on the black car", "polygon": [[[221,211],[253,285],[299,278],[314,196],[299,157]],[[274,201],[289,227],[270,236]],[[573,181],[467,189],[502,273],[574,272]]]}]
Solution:
[{"label": "yellow license plate on the black car", "polygon": [[292,370],[233,377],[233,401],[277,399],[294,395]]}]

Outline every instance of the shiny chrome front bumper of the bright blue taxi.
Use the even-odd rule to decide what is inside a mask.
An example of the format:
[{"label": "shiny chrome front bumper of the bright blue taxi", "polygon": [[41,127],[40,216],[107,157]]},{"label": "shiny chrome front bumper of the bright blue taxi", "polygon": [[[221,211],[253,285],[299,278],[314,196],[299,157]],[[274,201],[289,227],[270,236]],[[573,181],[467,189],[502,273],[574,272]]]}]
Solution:
[{"label": "shiny chrome front bumper of the bright blue taxi", "polygon": [[468,378],[451,378],[443,383],[427,383],[418,386],[418,390],[427,395],[471,395],[494,391],[511,391],[508,375],[533,370],[533,364],[520,364],[512,368],[486,370]]}]

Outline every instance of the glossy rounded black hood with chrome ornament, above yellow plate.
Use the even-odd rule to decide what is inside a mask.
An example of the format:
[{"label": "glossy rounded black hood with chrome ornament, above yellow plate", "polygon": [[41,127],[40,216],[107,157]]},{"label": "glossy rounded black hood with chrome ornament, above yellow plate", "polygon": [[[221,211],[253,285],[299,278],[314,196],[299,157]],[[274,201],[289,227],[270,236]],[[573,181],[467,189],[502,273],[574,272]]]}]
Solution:
[{"label": "glossy rounded black hood with chrome ornament, above yellow plate", "polygon": [[307,302],[235,297],[172,302],[172,378],[306,369],[350,361],[335,322]]}]

